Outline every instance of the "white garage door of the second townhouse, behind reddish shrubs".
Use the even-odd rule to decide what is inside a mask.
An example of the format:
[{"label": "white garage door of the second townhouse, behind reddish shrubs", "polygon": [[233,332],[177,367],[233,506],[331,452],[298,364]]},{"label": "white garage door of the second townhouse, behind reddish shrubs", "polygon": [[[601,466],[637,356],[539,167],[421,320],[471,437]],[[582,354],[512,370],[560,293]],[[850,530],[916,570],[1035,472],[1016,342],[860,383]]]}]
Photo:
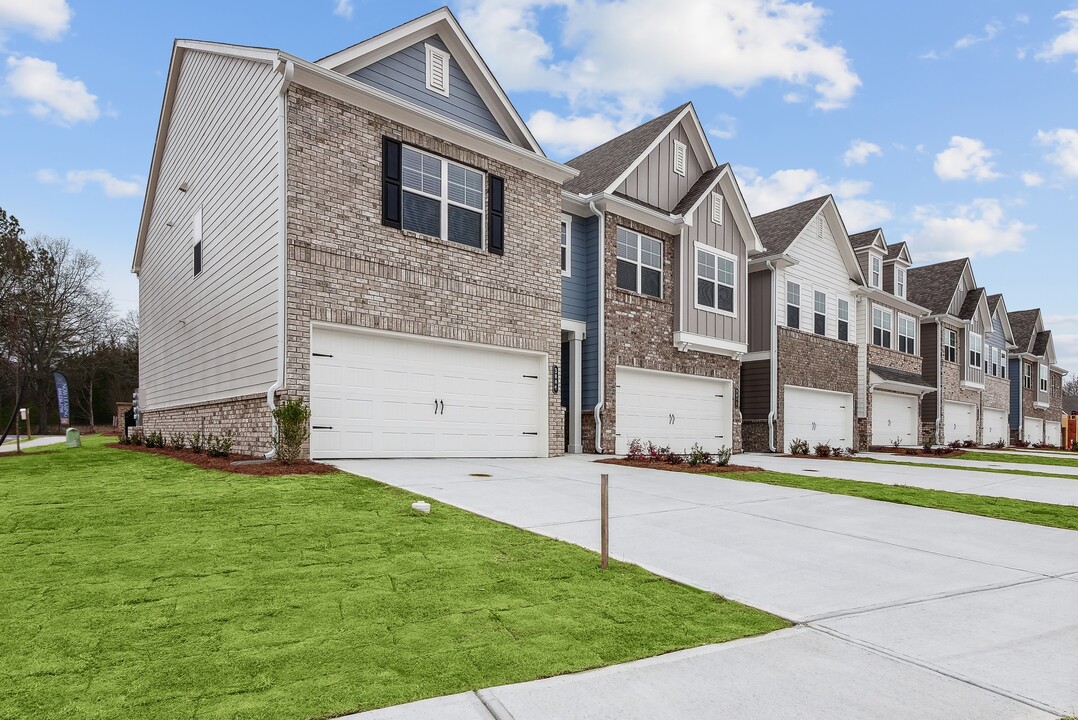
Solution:
[{"label": "white garage door of the second townhouse, behind reddish shrubs", "polygon": [[714,377],[617,369],[617,453],[640,440],[681,453],[695,443],[717,451],[733,446],[733,383]]}]

